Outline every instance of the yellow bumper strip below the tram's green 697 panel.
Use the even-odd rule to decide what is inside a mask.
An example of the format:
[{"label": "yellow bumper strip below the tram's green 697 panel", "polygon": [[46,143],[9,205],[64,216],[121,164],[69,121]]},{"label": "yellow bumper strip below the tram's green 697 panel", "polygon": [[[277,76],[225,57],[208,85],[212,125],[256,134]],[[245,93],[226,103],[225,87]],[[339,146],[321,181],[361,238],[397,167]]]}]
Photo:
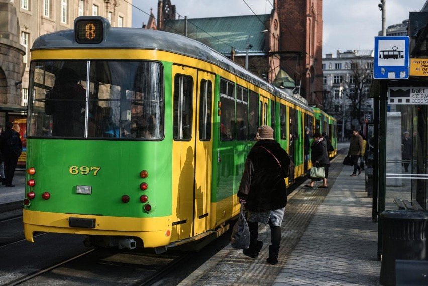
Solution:
[{"label": "yellow bumper strip below the tram's green 697 panel", "polygon": [[[69,227],[69,217],[94,218],[96,220],[95,228]],[[167,231],[171,229],[171,222],[171,216],[130,218],[23,210],[25,238],[30,242],[34,242],[34,232],[54,232],[83,235],[133,236],[139,237],[144,242],[144,247],[157,247],[170,243],[171,236],[167,235]],[[165,226],[168,227],[165,228]]]}]

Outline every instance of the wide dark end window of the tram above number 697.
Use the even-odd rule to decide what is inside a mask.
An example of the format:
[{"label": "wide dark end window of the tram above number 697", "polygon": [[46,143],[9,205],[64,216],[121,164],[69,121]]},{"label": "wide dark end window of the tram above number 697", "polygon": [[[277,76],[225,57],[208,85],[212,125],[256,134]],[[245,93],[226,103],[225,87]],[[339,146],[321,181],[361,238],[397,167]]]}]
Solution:
[{"label": "wide dark end window of the tram above number 697", "polygon": [[27,136],[162,139],[162,82],[158,62],[32,62]]}]

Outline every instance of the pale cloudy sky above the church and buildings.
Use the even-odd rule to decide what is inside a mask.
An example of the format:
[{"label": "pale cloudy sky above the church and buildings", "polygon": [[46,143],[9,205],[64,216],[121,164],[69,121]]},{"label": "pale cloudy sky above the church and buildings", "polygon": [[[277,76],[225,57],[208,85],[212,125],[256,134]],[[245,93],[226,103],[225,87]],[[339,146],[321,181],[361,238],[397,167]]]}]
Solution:
[{"label": "pale cloudy sky above the church and buildings", "polygon": [[[150,8],[157,16],[158,0],[133,0],[132,27],[147,24]],[[269,14],[273,0],[171,0],[177,18]],[[337,49],[374,49],[374,37],[382,30],[380,0],[323,0],[323,57]],[[385,0],[385,27],[409,18],[409,12],[420,11],[425,0]]]}]

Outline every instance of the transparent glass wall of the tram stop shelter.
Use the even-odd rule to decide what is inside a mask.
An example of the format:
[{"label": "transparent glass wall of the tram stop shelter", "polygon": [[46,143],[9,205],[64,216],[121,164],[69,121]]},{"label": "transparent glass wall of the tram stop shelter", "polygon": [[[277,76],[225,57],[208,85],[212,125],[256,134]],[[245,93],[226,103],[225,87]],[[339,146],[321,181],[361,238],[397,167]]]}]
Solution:
[{"label": "transparent glass wall of the tram stop shelter", "polygon": [[[390,105],[386,116],[385,141],[386,210],[396,209],[394,198],[417,200],[426,209],[427,115],[427,105]],[[371,144],[373,140],[374,138],[368,138]]]}]

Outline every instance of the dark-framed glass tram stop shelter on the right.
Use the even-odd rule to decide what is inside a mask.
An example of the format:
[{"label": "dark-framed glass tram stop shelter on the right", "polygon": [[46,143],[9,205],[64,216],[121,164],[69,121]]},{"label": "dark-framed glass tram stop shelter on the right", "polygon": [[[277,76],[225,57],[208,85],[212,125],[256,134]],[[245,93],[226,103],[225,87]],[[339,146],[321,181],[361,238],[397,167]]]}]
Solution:
[{"label": "dark-framed glass tram stop shelter on the right", "polygon": [[[412,16],[412,13],[410,13]],[[411,17],[410,17],[411,18]],[[425,16],[424,21],[428,23]],[[373,220],[378,221],[378,257],[382,249],[379,215],[398,209],[395,199],[417,202],[427,210],[428,196],[428,25],[409,24],[409,76],[374,79]],[[375,54],[375,57],[381,56]],[[376,58],[375,58],[376,73]],[[376,78],[376,77],[375,77]]]}]

